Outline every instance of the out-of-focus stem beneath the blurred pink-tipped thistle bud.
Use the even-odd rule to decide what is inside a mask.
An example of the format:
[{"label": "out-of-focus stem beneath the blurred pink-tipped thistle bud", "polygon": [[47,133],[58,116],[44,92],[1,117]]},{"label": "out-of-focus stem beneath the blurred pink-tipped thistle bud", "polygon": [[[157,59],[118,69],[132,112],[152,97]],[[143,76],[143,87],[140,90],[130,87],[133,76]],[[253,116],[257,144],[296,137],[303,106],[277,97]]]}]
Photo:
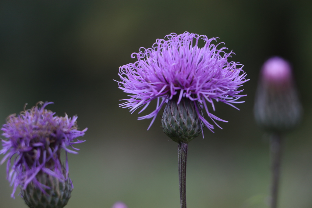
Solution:
[{"label": "out-of-focus stem beneath the blurred pink-tipped thistle bud", "polygon": [[280,179],[281,140],[282,137],[280,134],[274,133],[271,135],[271,208],[277,207],[278,185]]}]

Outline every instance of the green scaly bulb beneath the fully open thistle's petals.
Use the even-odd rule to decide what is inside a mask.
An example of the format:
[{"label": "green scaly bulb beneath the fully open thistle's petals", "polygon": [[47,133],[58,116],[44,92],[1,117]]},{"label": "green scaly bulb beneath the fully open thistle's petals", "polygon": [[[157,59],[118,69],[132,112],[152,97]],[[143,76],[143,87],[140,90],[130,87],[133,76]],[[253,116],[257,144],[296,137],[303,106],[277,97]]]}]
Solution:
[{"label": "green scaly bulb beneath the fully open thistle's petals", "polygon": [[178,143],[188,143],[202,132],[194,101],[188,98],[182,98],[178,104],[178,96],[173,96],[163,111],[161,121],[165,134]]}]

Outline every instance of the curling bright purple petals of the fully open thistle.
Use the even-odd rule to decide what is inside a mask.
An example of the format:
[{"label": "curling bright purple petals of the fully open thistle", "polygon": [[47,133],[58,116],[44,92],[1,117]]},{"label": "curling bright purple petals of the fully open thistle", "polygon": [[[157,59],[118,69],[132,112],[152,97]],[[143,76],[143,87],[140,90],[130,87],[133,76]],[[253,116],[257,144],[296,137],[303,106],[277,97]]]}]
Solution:
[{"label": "curling bright purple petals of the fully open thistle", "polygon": [[[171,33],[165,39],[157,39],[151,48],[141,47],[138,53],[131,55],[132,58],[137,57],[136,62],[119,68],[122,80],[119,88],[130,94],[130,98],[124,99],[120,106],[129,108],[130,112],[143,107],[140,113],[157,99],[156,109],[138,118],[153,118],[150,128],[163,104],[177,95],[178,103],[182,97],[198,102],[216,125],[215,120],[224,121],[208,111],[207,102],[212,105],[213,111],[214,101],[230,106],[244,102],[237,101],[246,96],[240,95],[243,90],[238,88],[248,80],[245,79],[243,65],[228,61],[234,53],[226,53],[227,48],[219,46],[222,43],[212,43],[216,39],[189,32],[180,35]],[[204,42],[203,47],[198,46],[201,41]],[[201,109],[196,109],[197,114],[212,131],[214,127],[204,118]]]}]

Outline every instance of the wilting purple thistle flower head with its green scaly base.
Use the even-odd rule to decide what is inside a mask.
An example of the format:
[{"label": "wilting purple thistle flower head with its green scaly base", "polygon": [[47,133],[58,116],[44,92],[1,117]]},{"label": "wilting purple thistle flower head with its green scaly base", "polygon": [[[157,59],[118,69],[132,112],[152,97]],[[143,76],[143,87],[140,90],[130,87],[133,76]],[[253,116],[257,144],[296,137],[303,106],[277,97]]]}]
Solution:
[{"label": "wilting purple thistle flower head with its green scaly base", "polygon": [[[79,150],[72,145],[84,141],[73,140],[87,131],[87,128],[78,130],[77,116],[60,117],[46,110],[51,103],[39,102],[39,107],[37,104],[18,116],[12,114],[1,128],[2,135],[9,138],[2,140],[0,154],[5,155],[1,164],[8,160],[7,180],[13,186],[11,197],[14,198],[20,186],[22,198],[31,208],[61,208],[67,204],[73,189],[68,176],[67,152],[77,154],[68,147]],[[66,153],[65,164],[61,162],[62,149]]]}]

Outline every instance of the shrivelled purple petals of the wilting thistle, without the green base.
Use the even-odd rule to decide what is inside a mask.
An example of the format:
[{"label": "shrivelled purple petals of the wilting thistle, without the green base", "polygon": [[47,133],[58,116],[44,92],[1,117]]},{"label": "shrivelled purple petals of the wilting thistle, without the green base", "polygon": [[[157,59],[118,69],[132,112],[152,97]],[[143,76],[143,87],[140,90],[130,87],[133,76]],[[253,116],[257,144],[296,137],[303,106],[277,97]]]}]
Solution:
[{"label": "shrivelled purple petals of the wilting thistle, without the green base", "polygon": [[[73,144],[84,142],[74,141],[87,131],[87,128],[82,131],[77,129],[77,116],[72,118],[67,115],[55,116],[55,112],[45,109],[51,103],[39,102],[37,106],[22,111],[18,116],[12,114],[1,128],[2,135],[8,138],[7,141],[2,140],[3,148],[0,154],[5,156],[1,164],[8,160],[7,180],[13,186],[12,197],[18,186],[26,189],[30,182],[43,192],[44,189],[49,189],[37,180],[38,173],[45,173],[60,181],[66,181],[68,178],[67,152],[77,153],[69,147],[79,150],[73,147]],[[65,165],[62,164],[60,158],[62,149],[66,152]],[[66,170],[65,173],[64,170]]]}]

